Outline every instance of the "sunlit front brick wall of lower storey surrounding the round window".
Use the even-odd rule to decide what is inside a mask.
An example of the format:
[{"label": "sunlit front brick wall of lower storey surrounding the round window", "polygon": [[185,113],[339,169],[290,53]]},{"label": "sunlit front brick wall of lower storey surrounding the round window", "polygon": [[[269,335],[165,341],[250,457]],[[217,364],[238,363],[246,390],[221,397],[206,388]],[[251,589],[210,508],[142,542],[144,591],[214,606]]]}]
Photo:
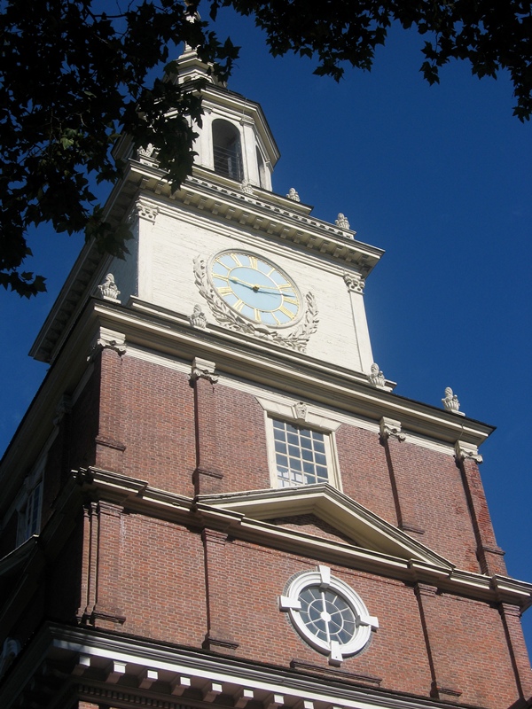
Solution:
[{"label": "sunlit front brick wall of lower storey surrounding the round window", "polygon": [[[314,570],[316,559],[139,515],[122,516],[120,539],[102,534],[120,548],[121,631],[197,648],[210,635],[211,651],[331,671],[278,607],[288,580]],[[379,618],[369,646],[342,662],[344,679],[425,697],[437,686],[441,698],[453,691],[453,701],[489,709],[512,704],[516,683],[497,608],[434,591],[421,609],[417,589],[402,581],[338,566],[332,573]]]}]

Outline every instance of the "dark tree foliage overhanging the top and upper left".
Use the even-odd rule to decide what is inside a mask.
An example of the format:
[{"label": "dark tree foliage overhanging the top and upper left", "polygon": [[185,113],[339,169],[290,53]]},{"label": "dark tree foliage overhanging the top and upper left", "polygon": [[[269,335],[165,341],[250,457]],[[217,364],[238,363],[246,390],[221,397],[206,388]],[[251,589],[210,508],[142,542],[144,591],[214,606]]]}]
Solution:
[{"label": "dark tree foliage overhanging the top and upper left", "polygon": [[[438,68],[467,59],[473,74],[510,72],[520,120],[532,112],[532,5],[519,0],[207,0],[253,14],[273,55],[317,57],[317,74],[340,79],[346,65],[370,69],[375,48],[392,21],[417,27],[428,41],[421,70],[438,82]],[[220,43],[195,17],[196,4],[150,0],[101,12],[98,0],[8,0],[0,5],[0,284],[29,297],[44,278],[23,270],[31,255],[27,230],[49,223],[72,234],[84,230],[106,253],[127,253],[129,232],[104,219],[91,184],[121,175],[111,147],[121,132],[138,147],[153,144],[168,179],[192,170],[192,118],[200,123],[197,89],[163,79],[153,67],[186,42],[215,64],[222,78],[237,51]],[[116,5],[109,5],[117,7]],[[96,8],[100,8],[99,11]]]}]

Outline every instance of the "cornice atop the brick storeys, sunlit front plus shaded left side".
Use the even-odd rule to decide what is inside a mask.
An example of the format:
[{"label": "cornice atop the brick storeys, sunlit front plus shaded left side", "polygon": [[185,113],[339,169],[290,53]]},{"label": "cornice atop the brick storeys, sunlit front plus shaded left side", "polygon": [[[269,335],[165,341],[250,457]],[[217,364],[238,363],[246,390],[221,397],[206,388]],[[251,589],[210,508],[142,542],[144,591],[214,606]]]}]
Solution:
[{"label": "cornice atop the brick storeys, sunlit front plus shaded left side", "polygon": [[[270,392],[283,390],[286,396],[293,396],[291,405],[294,401],[306,401],[318,409],[336,411],[341,423],[352,422],[368,431],[378,432],[383,416],[401,421],[409,441],[441,449],[449,455],[454,452],[457,440],[478,447],[493,431],[487,424],[451,417],[442,409],[368,386],[364,373],[333,367],[307,354],[245,338],[215,323],[209,323],[208,331],[198,331],[191,327],[187,316],[139,299],[131,299],[128,307],[91,299],[77,317],[55,366],[44,379],[4,454],[0,479],[5,499],[20,487],[20,476],[13,475],[13,471],[31,465],[50,435],[51,406],[53,409],[54,402],[66,391],[75,391],[87,374],[86,353],[101,327],[125,336],[126,356],[131,351],[150,361],[168,361],[167,366],[184,372],[190,371],[186,362],[200,357],[216,362],[218,375],[231,386],[248,387],[253,393],[264,388]],[[49,428],[45,425],[47,421]]]}]

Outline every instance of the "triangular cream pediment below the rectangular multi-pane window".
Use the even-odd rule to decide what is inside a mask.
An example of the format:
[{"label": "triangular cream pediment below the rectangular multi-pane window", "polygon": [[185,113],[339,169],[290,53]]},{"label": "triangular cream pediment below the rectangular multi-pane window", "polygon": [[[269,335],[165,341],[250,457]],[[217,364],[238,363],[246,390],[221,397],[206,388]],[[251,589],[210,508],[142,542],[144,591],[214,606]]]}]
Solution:
[{"label": "triangular cream pediment below the rectangular multi-pane window", "polygon": [[[210,508],[237,512],[243,518],[282,526],[295,534],[299,526],[301,534],[316,534],[332,543],[350,541],[353,547],[390,557],[449,570],[454,568],[450,561],[330,485],[201,495],[198,502]],[[324,534],[324,526],[313,523],[312,518],[323,521]],[[335,535],[336,540],[332,539]]]}]

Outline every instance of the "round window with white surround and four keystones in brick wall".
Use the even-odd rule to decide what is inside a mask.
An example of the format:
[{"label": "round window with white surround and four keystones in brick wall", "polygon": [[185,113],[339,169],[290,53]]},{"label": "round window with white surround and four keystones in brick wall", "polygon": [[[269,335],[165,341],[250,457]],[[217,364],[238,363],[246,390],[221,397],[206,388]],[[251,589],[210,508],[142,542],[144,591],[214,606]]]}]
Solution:
[{"label": "round window with white surround and four keystones in brick wall", "polygon": [[379,621],[370,616],[361,597],[331,575],[328,566],[298,574],[279,598],[281,611],[315,650],[329,655],[332,665],[355,655],[369,643]]}]

